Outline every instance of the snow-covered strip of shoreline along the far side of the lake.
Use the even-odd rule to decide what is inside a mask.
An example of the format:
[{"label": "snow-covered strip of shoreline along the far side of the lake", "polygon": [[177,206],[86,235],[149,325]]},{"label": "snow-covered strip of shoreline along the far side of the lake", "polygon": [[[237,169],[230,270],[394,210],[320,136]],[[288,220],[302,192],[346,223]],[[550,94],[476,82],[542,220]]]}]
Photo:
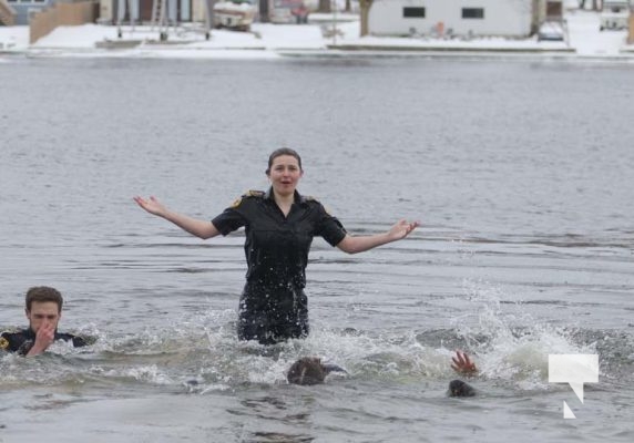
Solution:
[{"label": "snow-covered strip of shoreline along the far side of the lake", "polygon": [[625,31],[600,32],[596,13],[577,11],[566,17],[567,40],[359,38],[359,22],[304,25],[254,23],[252,32],[213,30],[209,40],[193,27],[172,29],[166,42],[156,28],[84,24],[60,27],[29,44],[28,27],[0,27],[0,54],[27,56],[224,58],[393,56],[401,54],[530,55],[566,59],[634,61],[634,45]]}]

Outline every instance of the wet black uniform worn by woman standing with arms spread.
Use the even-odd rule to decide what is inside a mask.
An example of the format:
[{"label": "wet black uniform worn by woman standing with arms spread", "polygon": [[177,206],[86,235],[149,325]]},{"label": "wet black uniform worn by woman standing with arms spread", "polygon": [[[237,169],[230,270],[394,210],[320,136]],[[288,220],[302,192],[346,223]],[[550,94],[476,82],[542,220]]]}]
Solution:
[{"label": "wet black uniform worn by woman standing with arms spread", "polygon": [[324,206],[295,192],[288,216],[267,193],[252,190],[212,220],[222,235],[245,227],[246,285],[241,297],[238,336],[269,344],[308,334],[304,293],[313,237],[336,246],[346,236]]}]

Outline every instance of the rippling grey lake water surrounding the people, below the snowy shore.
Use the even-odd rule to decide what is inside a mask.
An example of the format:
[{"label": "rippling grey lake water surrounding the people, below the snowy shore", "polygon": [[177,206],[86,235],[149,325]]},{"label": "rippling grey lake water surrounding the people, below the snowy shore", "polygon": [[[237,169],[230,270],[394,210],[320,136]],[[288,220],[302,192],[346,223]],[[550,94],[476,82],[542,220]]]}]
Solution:
[{"label": "rippling grey lake water surrounding the people, below the snowy shore", "polygon": [[[631,442],[633,101],[606,63],[0,61],[0,329],[49,285],[96,338],[0,357],[0,442]],[[211,219],[285,145],[349,231],[422,226],[356,256],[316,239],[311,334],[264,348],[235,334],[242,233],[132,197]],[[454,349],[479,396],[447,396]],[[584,403],[550,353],[599,354]],[[350,375],[288,385],[301,356]]]}]

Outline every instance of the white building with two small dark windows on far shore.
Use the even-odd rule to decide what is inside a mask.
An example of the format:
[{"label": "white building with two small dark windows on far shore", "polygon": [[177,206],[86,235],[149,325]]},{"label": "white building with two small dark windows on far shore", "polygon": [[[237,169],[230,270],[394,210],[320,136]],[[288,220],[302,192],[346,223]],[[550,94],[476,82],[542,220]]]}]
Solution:
[{"label": "white building with two small dark windows on far shore", "polygon": [[453,34],[526,37],[538,0],[374,0],[372,35]]}]

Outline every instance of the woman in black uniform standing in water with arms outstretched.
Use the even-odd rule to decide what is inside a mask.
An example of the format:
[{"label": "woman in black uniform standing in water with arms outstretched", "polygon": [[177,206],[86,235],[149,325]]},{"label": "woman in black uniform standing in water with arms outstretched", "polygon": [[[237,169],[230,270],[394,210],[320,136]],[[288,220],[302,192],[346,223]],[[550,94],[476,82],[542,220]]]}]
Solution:
[{"label": "woman in black uniform standing in water with arms outstretched", "polygon": [[273,344],[308,334],[304,287],[313,237],[321,236],[331,246],[356,254],[400,240],[418,226],[400,220],[382,234],[350,236],[319,202],[297,192],[303,174],[299,154],[286,147],[275,151],[266,169],[270,188],[242,196],[211,223],[174,213],[154,197],[134,197],[150,214],[203,239],[245,227],[248,269],[239,302],[241,340]]}]

